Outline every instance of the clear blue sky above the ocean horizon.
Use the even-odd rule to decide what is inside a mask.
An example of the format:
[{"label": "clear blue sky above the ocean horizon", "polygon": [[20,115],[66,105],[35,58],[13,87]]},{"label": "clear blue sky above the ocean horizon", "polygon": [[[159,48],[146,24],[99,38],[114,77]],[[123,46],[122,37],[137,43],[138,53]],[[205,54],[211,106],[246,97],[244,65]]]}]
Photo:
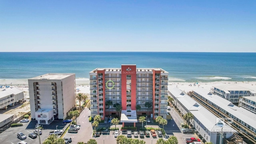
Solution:
[{"label": "clear blue sky above the ocean horizon", "polygon": [[0,0],[0,52],[256,52],[256,0]]}]

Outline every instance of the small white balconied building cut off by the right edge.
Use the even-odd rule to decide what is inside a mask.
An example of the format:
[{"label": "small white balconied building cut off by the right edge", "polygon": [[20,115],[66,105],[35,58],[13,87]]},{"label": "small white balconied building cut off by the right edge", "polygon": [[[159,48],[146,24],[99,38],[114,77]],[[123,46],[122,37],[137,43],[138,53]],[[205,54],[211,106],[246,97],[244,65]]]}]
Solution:
[{"label": "small white balconied building cut off by the right edge", "polygon": [[256,114],[256,96],[240,97],[238,106]]}]

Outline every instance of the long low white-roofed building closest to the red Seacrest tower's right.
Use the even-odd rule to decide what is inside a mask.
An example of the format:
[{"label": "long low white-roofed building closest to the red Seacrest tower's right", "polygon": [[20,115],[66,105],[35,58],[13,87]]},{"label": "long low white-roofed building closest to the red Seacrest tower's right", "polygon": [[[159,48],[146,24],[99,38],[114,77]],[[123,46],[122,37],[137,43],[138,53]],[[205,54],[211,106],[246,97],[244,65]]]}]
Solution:
[{"label": "long low white-roofed building closest to the red Seacrest tower's right", "polygon": [[174,106],[180,110],[182,115],[188,112],[193,114],[190,124],[196,128],[206,142],[222,144],[224,140],[235,137],[234,133],[236,130],[212,114],[212,112],[204,108],[185,92],[174,88],[170,90],[169,94],[174,99]]}]

